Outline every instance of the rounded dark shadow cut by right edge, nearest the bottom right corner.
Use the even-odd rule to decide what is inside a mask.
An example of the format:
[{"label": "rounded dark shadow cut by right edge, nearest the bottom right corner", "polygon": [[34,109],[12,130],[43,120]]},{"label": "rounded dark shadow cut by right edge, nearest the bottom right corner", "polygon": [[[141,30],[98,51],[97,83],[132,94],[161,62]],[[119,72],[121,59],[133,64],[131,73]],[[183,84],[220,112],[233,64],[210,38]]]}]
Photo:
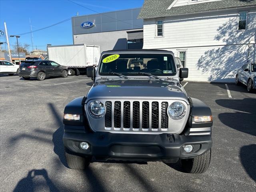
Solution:
[{"label": "rounded dark shadow cut by right edge, nearest the bottom right corner", "polygon": [[240,159],[247,174],[256,182],[256,144],[243,146]]}]

